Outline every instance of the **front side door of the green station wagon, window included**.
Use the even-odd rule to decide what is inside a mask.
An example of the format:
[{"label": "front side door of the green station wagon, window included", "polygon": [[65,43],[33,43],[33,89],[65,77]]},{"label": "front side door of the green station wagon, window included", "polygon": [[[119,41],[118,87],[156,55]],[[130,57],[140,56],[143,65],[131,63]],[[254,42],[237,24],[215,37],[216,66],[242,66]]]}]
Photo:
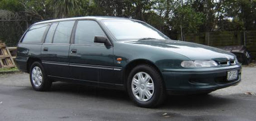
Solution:
[{"label": "front side door of the green station wagon, window included", "polygon": [[70,46],[71,78],[83,81],[114,83],[113,47],[94,43],[94,36],[106,36],[93,20],[78,20]]}]

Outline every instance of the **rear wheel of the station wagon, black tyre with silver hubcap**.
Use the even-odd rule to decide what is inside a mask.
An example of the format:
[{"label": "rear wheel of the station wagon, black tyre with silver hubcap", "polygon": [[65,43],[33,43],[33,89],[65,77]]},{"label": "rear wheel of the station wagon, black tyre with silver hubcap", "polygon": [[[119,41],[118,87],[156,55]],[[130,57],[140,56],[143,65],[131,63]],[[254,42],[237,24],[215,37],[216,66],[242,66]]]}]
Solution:
[{"label": "rear wheel of the station wagon, black tyre with silver hubcap", "polygon": [[52,82],[47,79],[43,66],[40,62],[34,62],[30,66],[30,83],[35,91],[47,91]]}]

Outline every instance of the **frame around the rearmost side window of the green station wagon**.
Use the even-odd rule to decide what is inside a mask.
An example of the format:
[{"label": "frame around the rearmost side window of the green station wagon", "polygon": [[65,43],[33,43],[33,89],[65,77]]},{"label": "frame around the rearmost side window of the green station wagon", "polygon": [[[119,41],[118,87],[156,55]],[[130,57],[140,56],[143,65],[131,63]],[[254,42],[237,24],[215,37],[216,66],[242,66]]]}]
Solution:
[{"label": "frame around the rearmost side window of the green station wagon", "polygon": [[[42,34],[41,41],[40,41],[40,42],[26,42],[26,43],[23,43],[24,37],[25,37],[25,35],[28,33],[28,30],[29,30],[32,26],[34,26],[34,25],[40,25],[40,24],[45,24],[45,25],[47,25],[47,27],[46,27],[44,33]],[[31,25],[29,28],[27,28],[26,31],[24,32],[24,34],[21,36],[21,38],[20,38],[20,40],[19,40],[19,43],[22,43],[22,44],[42,44],[42,43],[44,43],[44,39],[45,39],[45,37],[46,37],[46,34],[47,34],[48,30],[49,30],[49,27],[50,27],[51,23],[40,23],[40,24],[33,24],[33,25]]]}]

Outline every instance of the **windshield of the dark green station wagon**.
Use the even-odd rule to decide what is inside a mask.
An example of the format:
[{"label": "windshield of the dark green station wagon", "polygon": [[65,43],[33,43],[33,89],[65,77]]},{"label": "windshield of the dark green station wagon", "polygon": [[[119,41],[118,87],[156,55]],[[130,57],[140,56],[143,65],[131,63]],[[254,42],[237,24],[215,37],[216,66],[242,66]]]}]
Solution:
[{"label": "windshield of the dark green station wagon", "polygon": [[104,19],[107,29],[118,40],[169,39],[150,25],[136,20]]}]

